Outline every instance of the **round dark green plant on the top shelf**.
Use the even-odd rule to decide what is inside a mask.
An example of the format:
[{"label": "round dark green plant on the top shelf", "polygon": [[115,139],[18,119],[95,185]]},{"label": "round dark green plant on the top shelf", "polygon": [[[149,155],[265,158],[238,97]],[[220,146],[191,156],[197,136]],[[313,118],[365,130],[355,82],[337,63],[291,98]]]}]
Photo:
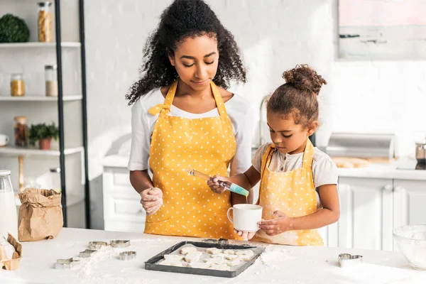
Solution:
[{"label": "round dark green plant on the top shelf", "polygon": [[23,19],[11,13],[0,18],[0,43],[26,43],[30,30]]}]

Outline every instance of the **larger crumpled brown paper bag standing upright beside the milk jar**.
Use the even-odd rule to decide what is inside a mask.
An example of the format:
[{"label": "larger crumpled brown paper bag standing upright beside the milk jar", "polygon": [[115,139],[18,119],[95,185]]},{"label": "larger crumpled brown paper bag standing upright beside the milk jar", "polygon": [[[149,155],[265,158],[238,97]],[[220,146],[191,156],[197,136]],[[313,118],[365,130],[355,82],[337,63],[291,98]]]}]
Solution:
[{"label": "larger crumpled brown paper bag standing upright beside the milk jar", "polygon": [[64,221],[61,194],[55,190],[27,188],[19,194],[19,241],[40,241],[58,236]]}]

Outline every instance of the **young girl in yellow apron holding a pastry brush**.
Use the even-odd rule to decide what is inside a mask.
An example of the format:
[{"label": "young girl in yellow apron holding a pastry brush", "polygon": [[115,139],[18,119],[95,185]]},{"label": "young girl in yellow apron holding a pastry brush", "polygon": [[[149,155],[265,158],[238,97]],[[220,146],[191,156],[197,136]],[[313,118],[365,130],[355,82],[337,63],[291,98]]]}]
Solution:
[{"label": "young girl in yellow apron holding a pastry brush", "polygon": [[[263,207],[260,230],[239,231],[244,239],[271,244],[322,246],[317,228],[339,219],[337,167],[309,140],[318,127],[317,95],[327,82],[307,65],[284,72],[285,84],[275,90],[267,104],[267,121],[273,143],[258,148],[252,166],[230,178],[217,180],[252,188],[260,180],[258,204]],[[250,190],[253,202],[253,189]]]}]

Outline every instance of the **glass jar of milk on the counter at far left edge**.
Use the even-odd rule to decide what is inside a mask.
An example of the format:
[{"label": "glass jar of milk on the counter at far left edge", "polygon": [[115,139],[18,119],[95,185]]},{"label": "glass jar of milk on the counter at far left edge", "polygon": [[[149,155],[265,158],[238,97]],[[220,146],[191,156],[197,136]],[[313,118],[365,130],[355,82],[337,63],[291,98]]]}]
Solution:
[{"label": "glass jar of milk on the counter at far left edge", "polygon": [[0,235],[7,236],[8,233],[18,238],[18,213],[11,171],[0,170]]}]

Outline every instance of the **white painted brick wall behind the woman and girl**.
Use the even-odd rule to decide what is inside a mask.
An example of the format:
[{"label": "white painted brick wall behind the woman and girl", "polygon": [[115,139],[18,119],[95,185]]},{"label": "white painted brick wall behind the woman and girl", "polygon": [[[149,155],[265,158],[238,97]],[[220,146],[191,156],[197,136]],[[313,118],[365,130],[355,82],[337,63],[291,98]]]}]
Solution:
[{"label": "white painted brick wall behind the woman and girl", "polygon": [[[138,77],[143,43],[170,0],[86,1],[89,174],[96,198],[104,155],[126,152],[130,108],[124,94]],[[281,74],[308,63],[329,82],[320,96],[322,127],[395,133],[397,153],[414,155],[413,131],[425,130],[426,61],[344,61],[337,58],[337,0],[209,0],[243,50],[249,82],[234,88],[258,119],[261,98]],[[256,140],[256,139],[255,139]],[[102,207],[96,206],[99,213]]]}]

